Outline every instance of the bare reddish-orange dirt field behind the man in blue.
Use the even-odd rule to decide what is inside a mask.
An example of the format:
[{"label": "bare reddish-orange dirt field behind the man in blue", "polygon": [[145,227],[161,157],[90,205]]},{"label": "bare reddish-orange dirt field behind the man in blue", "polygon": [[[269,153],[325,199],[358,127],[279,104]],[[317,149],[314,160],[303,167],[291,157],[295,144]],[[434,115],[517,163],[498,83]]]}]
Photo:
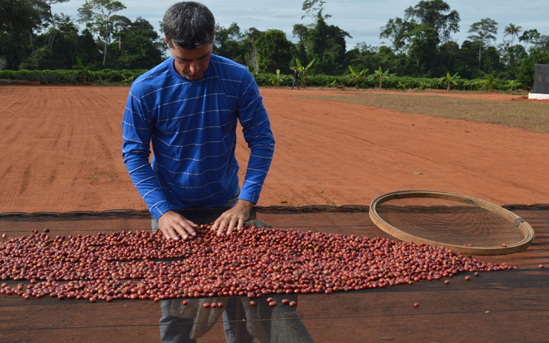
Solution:
[{"label": "bare reddish-orange dirt field behind the man in blue", "polygon": [[[121,158],[128,90],[0,86],[0,212],[146,209]],[[296,97],[335,90],[261,92],[277,145],[258,205],[369,204],[404,189],[549,202],[549,134]],[[246,154],[240,139],[241,182]]]}]

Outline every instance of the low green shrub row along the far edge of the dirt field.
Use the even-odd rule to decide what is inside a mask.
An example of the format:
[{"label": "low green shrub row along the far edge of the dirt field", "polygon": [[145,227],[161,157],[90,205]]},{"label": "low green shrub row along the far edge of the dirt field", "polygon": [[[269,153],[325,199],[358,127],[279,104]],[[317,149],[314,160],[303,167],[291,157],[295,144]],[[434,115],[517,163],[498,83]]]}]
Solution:
[{"label": "low green shrub row along the far edge of the dirt field", "polygon": [[[87,82],[95,84],[131,84],[135,78],[145,69],[136,70],[116,70],[102,69],[99,71],[88,71]],[[71,84],[84,82],[84,71],[82,70],[0,70],[0,79],[9,80],[27,80],[38,81],[45,84]],[[301,79],[301,78],[300,78]],[[272,73],[259,73],[255,75],[255,80],[259,86],[292,86],[292,75],[279,75]],[[452,89],[460,90],[480,90],[487,89],[487,80],[474,79],[466,80],[457,78],[456,85],[452,84]],[[356,82],[350,82],[348,76],[331,76],[323,74],[307,75],[307,86],[314,87],[355,87]],[[358,80],[359,88],[375,88],[379,86],[379,80],[374,78],[373,74],[361,77]],[[494,90],[505,91],[510,88],[520,88],[520,84],[515,82],[510,84],[506,80],[493,80],[491,86]],[[446,85],[442,78],[412,78],[409,76],[390,75],[384,78],[383,88],[408,89],[408,88],[432,88],[445,89]]]}]

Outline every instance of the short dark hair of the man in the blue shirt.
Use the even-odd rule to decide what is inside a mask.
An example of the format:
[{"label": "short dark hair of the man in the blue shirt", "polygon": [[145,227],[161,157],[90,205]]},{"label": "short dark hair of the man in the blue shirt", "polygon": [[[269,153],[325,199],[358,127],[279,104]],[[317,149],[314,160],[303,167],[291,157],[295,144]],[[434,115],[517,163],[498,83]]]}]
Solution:
[{"label": "short dark hair of the man in the blue shirt", "polygon": [[163,19],[167,43],[183,49],[196,49],[213,43],[215,19],[202,3],[179,2],[168,8]]}]

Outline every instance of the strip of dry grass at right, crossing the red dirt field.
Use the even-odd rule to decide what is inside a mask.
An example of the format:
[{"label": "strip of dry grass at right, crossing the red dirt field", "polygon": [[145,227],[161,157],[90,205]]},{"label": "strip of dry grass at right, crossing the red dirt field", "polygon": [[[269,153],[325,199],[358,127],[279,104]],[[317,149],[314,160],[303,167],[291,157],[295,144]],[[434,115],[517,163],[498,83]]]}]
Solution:
[{"label": "strip of dry grass at right, crossing the red dirt field", "polygon": [[336,95],[299,95],[299,97],[360,104],[402,113],[493,123],[532,132],[549,133],[549,106],[546,104],[371,93],[355,93],[353,96],[341,97]]}]

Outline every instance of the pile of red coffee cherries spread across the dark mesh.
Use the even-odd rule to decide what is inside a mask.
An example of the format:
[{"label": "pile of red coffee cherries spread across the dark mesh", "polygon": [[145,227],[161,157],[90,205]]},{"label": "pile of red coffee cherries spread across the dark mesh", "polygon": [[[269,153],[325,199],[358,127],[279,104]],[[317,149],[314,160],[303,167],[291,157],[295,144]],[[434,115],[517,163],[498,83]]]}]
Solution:
[{"label": "pile of red coffee cherries spread across the dark mesh", "polygon": [[[244,226],[168,240],[159,231],[38,233],[0,242],[0,294],[165,300],[348,292],[516,269],[425,244]],[[25,281],[14,282],[5,281]]]}]

